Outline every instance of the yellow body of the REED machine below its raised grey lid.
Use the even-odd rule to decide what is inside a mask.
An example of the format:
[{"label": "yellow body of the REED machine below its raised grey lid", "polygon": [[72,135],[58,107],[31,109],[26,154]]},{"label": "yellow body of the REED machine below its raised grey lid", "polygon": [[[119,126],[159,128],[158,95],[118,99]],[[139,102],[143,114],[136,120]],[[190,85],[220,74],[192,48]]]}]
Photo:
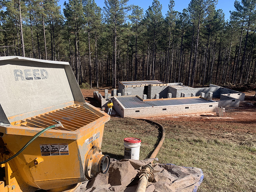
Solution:
[{"label": "yellow body of the REED machine below its raised grey lid", "polygon": [[[69,68],[68,66],[70,72]],[[57,94],[56,97],[60,95]],[[54,106],[4,118],[3,114],[6,113],[0,98],[0,112],[2,122],[4,121],[0,124],[0,161],[16,154],[36,133],[55,124],[53,120],[58,120],[63,125],[44,132],[20,155],[0,165],[0,169],[5,171],[4,180],[0,181],[0,192],[32,192],[38,188],[63,191],[93,178],[100,172],[102,163],[105,164],[103,169],[107,168],[106,164],[109,162],[102,160],[100,147],[104,124],[109,116],[92,105],[81,102],[84,100],[81,95],[78,98],[79,101],[56,101]]]}]

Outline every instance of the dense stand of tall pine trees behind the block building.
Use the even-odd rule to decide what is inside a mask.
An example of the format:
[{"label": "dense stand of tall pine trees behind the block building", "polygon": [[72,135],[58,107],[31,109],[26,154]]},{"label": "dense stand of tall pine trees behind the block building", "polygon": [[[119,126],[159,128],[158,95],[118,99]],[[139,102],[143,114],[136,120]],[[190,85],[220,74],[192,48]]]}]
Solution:
[{"label": "dense stand of tall pine trees behind the block building", "polygon": [[[0,56],[69,62],[79,84],[161,80],[188,86],[255,84],[256,0],[234,2],[225,20],[217,0],[191,0],[182,12],[153,0],[0,1]],[[164,16],[162,6],[169,11]],[[63,12],[63,13],[62,13]]]}]

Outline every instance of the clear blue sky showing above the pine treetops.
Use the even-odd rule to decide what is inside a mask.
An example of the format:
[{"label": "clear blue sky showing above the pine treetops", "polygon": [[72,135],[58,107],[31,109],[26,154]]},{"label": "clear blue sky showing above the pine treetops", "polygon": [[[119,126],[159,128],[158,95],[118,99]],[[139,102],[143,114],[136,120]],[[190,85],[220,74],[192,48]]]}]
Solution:
[{"label": "clear blue sky showing above the pine treetops", "polygon": [[[59,1],[59,5],[61,6],[61,11],[64,8],[63,4],[64,4],[65,0],[60,0]],[[105,6],[104,4],[104,0],[94,0],[95,3],[101,8],[103,9],[103,7]],[[68,0],[66,0],[66,2],[68,2]],[[162,14],[163,16],[165,16],[165,14],[168,11],[168,4],[170,3],[170,0],[159,0],[160,4],[162,4]],[[188,7],[188,4],[190,3],[190,0],[174,0],[175,2],[175,6],[174,6],[174,10],[175,11],[179,11],[182,12],[182,10],[184,8]],[[223,12],[225,13],[225,20],[229,19],[229,11],[234,11],[234,2],[235,0],[219,0],[216,9],[222,9]],[[143,8],[144,12],[146,12],[146,10],[148,9],[149,6],[152,5],[152,1],[151,0],[129,0],[128,5],[138,5],[141,8]]]}]

